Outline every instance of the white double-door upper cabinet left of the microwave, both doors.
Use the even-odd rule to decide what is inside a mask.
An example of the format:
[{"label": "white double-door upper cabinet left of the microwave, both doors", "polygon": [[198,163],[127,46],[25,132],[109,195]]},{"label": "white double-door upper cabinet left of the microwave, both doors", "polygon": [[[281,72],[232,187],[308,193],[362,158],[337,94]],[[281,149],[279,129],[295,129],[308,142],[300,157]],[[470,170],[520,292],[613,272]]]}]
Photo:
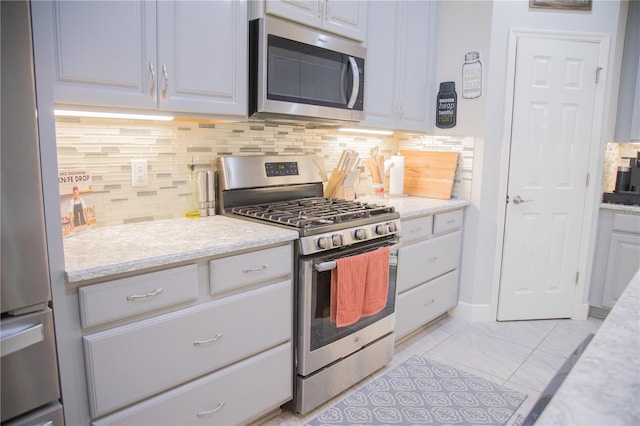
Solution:
[{"label": "white double-door upper cabinet left of the microwave, both doors", "polygon": [[244,1],[33,3],[58,104],[246,115]]}]

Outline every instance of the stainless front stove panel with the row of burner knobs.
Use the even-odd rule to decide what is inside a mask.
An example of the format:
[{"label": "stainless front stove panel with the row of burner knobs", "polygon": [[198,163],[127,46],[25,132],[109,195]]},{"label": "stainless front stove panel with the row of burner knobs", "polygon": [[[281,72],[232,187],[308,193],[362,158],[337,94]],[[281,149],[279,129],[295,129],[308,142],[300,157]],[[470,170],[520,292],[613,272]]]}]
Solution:
[{"label": "stainless front stove panel with the row of burner knobs", "polygon": [[378,222],[300,238],[303,255],[359,244],[400,232],[400,220]]}]

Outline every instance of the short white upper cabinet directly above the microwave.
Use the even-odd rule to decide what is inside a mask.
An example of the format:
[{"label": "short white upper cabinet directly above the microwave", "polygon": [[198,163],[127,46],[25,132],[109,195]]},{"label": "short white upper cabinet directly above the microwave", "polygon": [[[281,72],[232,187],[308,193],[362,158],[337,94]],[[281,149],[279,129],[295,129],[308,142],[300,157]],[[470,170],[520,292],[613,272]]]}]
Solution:
[{"label": "short white upper cabinet directly above the microwave", "polygon": [[266,0],[265,12],[363,41],[367,33],[364,0]]}]

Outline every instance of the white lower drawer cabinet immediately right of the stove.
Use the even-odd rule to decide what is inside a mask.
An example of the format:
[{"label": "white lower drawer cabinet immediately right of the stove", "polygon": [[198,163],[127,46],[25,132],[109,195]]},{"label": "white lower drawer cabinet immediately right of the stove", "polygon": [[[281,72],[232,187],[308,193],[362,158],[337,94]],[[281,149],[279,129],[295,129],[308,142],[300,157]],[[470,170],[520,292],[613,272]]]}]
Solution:
[{"label": "white lower drawer cabinet immediately right of the stove", "polygon": [[458,304],[462,222],[462,209],[402,221],[396,339]]}]

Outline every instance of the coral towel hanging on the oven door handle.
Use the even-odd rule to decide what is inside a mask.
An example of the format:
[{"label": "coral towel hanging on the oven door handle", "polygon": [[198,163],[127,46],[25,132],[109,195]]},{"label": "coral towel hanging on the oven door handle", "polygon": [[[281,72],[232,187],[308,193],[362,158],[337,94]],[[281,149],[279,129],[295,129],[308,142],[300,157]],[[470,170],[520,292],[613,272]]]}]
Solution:
[{"label": "coral towel hanging on the oven door handle", "polygon": [[331,272],[331,321],[346,327],[387,304],[389,247],[336,260]]}]

